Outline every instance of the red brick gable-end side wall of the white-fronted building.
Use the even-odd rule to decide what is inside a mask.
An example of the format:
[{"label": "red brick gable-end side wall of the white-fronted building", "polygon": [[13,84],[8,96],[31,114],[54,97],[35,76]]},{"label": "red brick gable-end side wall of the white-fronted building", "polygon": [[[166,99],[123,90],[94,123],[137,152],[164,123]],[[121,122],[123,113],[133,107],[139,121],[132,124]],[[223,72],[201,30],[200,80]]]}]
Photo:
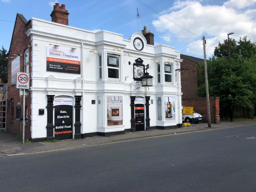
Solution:
[{"label": "red brick gable-end side wall of the white-fronted building", "polygon": [[[8,59],[8,105],[7,105],[7,118],[6,118],[6,130],[11,131],[16,134],[22,133],[22,121],[19,120],[21,114],[23,113],[22,103],[23,97],[19,96],[19,89],[16,89],[14,80],[16,76],[12,76],[12,62],[16,59],[19,63],[19,70],[24,72],[25,70],[25,57],[26,63],[31,63],[31,41],[30,37],[26,35],[26,31],[31,28],[31,22],[27,21],[25,17],[21,14],[17,14],[15,25],[13,29],[12,40],[9,49],[9,59]],[[28,57],[28,58],[27,58]],[[29,67],[30,66],[30,67]],[[27,66],[26,66],[27,67]],[[27,72],[31,73],[31,65],[26,68]],[[30,81],[31,86],[31,81]],[[30,94],[25,99],[25,114],[31,115],[30,110]],[[25,126],[25,137],[29,138],[30,133],[30,121],[26,122]]]}]

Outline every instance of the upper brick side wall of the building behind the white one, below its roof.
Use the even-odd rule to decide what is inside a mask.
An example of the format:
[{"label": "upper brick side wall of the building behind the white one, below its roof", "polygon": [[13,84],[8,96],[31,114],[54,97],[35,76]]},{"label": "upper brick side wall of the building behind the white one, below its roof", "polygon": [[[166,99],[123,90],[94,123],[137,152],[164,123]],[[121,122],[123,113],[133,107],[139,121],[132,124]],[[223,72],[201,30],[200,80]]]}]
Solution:
[{"label": "upper brick side wall of the building behind the white one, below its roof", "polygon": [[181,68],[188,68],[188,71],[180,71],[181,92],[183,99],[197,97],[197,66],[189,61],[183,60]]}]

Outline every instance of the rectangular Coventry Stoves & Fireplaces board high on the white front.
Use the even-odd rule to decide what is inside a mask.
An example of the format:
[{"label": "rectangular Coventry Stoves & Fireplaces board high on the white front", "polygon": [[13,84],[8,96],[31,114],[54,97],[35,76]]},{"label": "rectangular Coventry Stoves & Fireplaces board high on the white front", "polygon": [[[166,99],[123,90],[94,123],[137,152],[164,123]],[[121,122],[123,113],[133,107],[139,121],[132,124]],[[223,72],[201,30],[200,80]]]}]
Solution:
[{"label": "rectangular Coventry Stoves & Fireplaces board high on the white front", "polygon": [[46,70],[61,73],[80,74],[80,51],[46,47]]}]

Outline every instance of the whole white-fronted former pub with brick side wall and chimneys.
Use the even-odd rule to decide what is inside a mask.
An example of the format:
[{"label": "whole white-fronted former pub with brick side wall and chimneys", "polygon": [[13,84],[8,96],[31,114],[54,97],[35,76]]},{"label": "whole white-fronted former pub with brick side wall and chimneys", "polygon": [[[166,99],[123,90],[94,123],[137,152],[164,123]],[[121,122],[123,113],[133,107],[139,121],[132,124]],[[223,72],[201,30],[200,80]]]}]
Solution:
[{"label": "whole white-fronted former pub with brick side wall and chimneys", "polygon": [[[154,46],[146,27],[129,39],[71,27],[68,14],[58,3],[52,22],[17,14],[9,55],[14,58],[8,63],[9,131],[19,133],[22,127],[16,71],[30,73],[26,137],[32,141],[182,126],[182,60],[174,47]],[[28,40],[16,43],[16,36]],[[146,72],[153,76],[152,86],[142,87]]]}]

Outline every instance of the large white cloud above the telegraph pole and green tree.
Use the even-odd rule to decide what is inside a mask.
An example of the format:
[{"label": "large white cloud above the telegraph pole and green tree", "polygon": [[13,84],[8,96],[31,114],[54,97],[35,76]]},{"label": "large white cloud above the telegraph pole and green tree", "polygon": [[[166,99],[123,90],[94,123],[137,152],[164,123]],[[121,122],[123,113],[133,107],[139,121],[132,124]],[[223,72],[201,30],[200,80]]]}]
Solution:
[{"label": "large white cloud above the telegraph pole and green tree", "polygon": [[[256,0],[242,1],[247,6],[254,4]],[[235,5],[230,7],[230,5]],[[228,6],[229,5],[229,6]],[[235,8],[239,7],[239,8]],[[188,29],[194,34],[202,37],[205,36],[206,52],[208,56],[212,56],[214,48],[218,42],[223,42],[227,39],[229,32],[234,32],[230,37],[239,40],[239,37],[247,36],[252,42],[256,41],[256,20],[255,8],[241,10],[239,0],[230,0],[223,5],[202,5],[199,1],[175,1],[174,5],[169,8],[169,11],[164,12],[164,16],[171,19],[180,26]],[[167,19],[159,16],[153,21],[153,25],[162,36],[172,34],[177,38],[199,38],[196,35],[178,27]],[[184,40],[185,41],[185,40]],[[187,47],[196,42],[189,43]],[[200,45],[202,47],[202,45]],[[187,52],[202,55],[202,48],[198,44],[190,48]],[[184,53],[186,54],[186,53]]]}]

